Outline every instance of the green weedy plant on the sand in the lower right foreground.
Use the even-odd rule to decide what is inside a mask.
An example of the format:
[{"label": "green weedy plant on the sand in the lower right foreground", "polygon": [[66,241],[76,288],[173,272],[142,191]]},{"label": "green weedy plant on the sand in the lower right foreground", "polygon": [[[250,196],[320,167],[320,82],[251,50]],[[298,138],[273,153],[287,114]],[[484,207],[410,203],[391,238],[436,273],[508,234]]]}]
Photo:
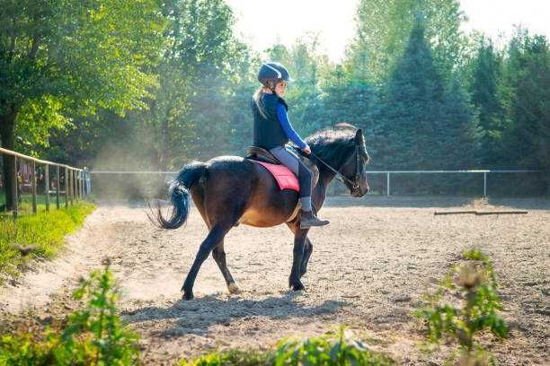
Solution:
[{"label": "green weedy plant on the sand in the lower right foreground", "polygon": [[[428,340],[457,342],[463,359],[489,360],[475,340],[484,330],[498,339],[508,336],[508,326],[498,314],[502,309],[492,262],[477,249],[463,253],[465,263],[453,266],[438,289],[425,296],[427,305],[414,312],[428,327]],[[451,301],[459,295],[460,303]],[[483,363],[484,364],[484,363]]]}]

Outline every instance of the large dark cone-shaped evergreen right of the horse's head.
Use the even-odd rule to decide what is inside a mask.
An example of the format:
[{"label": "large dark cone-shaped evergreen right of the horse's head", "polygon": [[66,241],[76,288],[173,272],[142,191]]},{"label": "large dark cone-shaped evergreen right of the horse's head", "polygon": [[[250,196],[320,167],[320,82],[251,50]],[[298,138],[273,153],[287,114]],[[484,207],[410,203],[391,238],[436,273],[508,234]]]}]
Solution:
[{"label": "large dark cone-shaped evergreen right of the horse's head", "polygon": [[446,89],[417,18],[376,117],[377,166],[459,169],[471,164],[476,121],[459,83]]}]

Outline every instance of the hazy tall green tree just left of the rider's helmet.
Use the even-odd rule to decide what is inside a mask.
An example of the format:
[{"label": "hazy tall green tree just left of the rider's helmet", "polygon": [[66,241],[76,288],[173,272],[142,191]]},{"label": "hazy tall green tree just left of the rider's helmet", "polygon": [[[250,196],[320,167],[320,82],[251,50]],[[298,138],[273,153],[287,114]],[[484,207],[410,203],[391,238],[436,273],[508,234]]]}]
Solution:
[{"label": "hazy tall green tree just left of the rider's helmet", "polygon": [[[242,123],[241,111],[248,112],[253,92],[251,56],[235,39],[234,16],[224,1],[171,1],[164,5],[164,16],[169,25],[157,69],[160,89],[150,111],[138,116],[159,170],[191,157],[227,153],[241,132],[232,124]],[[248,94],[245,100],[244,94]]]}]

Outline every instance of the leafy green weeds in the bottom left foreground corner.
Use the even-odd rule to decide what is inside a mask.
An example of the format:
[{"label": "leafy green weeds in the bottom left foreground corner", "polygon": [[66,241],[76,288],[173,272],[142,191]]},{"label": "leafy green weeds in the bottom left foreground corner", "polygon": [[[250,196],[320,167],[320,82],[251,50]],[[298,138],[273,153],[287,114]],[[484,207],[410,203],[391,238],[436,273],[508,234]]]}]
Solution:
[{"label": "leafy green weeds in the bottom left foreground corner", "polygon": [[0,337],[0,365],[131,365],[137,363],[138,335],[118,316],[118,289],[109,269],[95,271],[74,293],[83,309],[67,318],[63,329],[44,334],[24,331]]}]

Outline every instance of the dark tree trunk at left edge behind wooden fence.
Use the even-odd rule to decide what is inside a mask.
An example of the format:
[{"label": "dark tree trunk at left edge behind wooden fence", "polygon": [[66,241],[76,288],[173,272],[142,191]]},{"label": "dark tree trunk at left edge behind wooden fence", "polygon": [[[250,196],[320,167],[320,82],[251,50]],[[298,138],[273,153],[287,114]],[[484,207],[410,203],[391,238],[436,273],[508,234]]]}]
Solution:
[{"label": "dark tree trunk at left edge behind wooden fence", "polygon": [[[16,111],[8,108],[5,114],[0,115],[0,142],[4,149],[13,150],[15,134]],[[15,179],[15,158],[11,155],[2,154],[4,171],[2,178],[5,187],[5,208],[12,211],[16,208],[17,202],[17,180]]]}]

